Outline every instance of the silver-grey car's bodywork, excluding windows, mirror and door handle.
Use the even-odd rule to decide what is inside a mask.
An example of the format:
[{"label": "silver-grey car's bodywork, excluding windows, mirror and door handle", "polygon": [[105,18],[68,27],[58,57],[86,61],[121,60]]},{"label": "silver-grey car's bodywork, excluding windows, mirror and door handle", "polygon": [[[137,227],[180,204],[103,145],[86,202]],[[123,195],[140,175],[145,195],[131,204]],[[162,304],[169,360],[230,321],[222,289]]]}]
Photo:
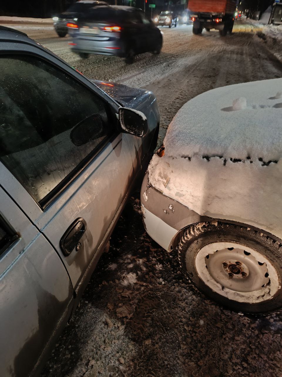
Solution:
[{"label": "silver-grey car's bodywork, excluding windows, mirror and door handle", "polygon": [[[145,160],[149,162],[159,113],[151,92],[118,84],[115,94],[102,91],[98,83],[23,33],[0,28],[0,54],[11,53],[32,54],[49,61],[107,101],[114,115],[121,104],[126,104],[143,112],[149,125],[144,138],[117,130],[44,208],[0,163],[0,193],[5,196],[0,201],[0,213],[20,236],[0,258],[0,375],[17,377],[38,375],[77,305],[141,171],[141,163],[146,166]],[[126,90],[132,94],[131,99]],[[87,223],[80,241],[82,248],[65,257],[59,241],[78,217]]]}]

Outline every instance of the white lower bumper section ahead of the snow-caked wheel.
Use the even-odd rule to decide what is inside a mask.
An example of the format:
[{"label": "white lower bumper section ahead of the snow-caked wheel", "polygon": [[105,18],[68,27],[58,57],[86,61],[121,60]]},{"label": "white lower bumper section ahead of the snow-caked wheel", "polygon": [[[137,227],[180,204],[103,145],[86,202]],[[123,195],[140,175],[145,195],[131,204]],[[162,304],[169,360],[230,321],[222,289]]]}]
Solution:
[{"label": "white lower bumper section ahead of the snow-caked wheel", "polygon": [[141,210],[143,213],[145,229],[149,236],[152,237],[153,240],[161,245],[161,247],[163,247],[165,250],[171,251],[170,243],[178,230],[172,228],[152,212],[148,211],[143,204],[141,204]]}]

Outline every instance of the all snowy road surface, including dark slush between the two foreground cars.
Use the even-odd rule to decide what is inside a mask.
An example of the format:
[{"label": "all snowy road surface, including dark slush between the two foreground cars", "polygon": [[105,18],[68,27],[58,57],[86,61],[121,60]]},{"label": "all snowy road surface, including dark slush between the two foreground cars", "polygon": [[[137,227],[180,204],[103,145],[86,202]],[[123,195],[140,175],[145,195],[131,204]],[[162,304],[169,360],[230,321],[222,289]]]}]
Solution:
[{"label": "all snowy road surface, including dark slush between the two foreground cars", "polygon": [[[82,60],[70,52],[70,38],[56,37],[50,26],[21,28],[88,77],[152,90],[161,111],[159,143],[197,94],[282,76],[274,55],[279,42],[240,22],[226,38],[193,35],[191,26],[163,28],[162,53],[140,55],[130,66],[115,57]],[[130,198],[42,377],[281,376],[282,315],[245,316],[204,299],[179,273],[176,253],[147,236],[138,196]]]}]

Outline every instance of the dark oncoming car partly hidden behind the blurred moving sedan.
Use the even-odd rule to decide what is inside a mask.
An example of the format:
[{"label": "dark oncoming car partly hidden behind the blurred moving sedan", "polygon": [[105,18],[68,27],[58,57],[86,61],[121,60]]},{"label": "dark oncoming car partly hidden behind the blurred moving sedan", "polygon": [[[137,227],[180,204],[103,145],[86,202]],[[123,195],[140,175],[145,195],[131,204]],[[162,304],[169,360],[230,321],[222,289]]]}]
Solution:
[{"label": "dark oncoming car partly hidden behind the blurred moving sedan", "polygon": [[97,5],[108,5],[108,3],[96,0],[80,0],[71,5],[67,11],[53,17],[54,28],[60,38],[68,34],[67,23],[76,22],[77,19]]}]

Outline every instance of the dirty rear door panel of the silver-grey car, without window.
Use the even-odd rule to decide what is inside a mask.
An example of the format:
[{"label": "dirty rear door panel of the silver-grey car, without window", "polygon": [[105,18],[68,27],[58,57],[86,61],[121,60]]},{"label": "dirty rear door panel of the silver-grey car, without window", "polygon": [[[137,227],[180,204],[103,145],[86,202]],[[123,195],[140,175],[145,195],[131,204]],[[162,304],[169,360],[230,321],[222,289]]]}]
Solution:
[{"label": "dirty rear door panel of the silver-grey car, without window", "polygon": [[19,235],[0,260],[0,374],[27,376],[67,319],[73,290],[56,251],[1,187],[0,202]]}]

